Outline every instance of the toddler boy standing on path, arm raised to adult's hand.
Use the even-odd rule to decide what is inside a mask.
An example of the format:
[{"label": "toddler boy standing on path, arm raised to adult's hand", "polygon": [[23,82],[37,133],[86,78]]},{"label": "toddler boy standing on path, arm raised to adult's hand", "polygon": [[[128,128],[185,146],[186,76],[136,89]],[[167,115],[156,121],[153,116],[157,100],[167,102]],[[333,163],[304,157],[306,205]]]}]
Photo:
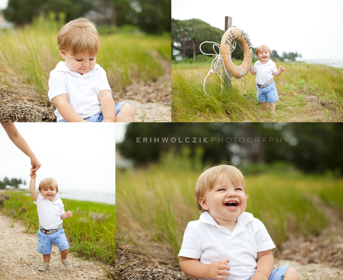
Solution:
[{"label": "toddler boy standing on path, arm raised to adult's hand", "polygon": [[62,219],[68,219],[73,216],[71,211],[64,211],[64,205],[59,197],[57,182],[54,179],[46,178],[39,183],[39,192],[35,190],[36,172],[30,173],[29,190],[34,204],[37,205],[39,218],[38,244],[37,252],[43,254],[44,263],[38,267],[38,270],[45,271],[49,269],[50,254],[52,243],[54,243],[61,252],[61,261],[67,269],[73,266],[68,256],[69,243],[62,227]]}]

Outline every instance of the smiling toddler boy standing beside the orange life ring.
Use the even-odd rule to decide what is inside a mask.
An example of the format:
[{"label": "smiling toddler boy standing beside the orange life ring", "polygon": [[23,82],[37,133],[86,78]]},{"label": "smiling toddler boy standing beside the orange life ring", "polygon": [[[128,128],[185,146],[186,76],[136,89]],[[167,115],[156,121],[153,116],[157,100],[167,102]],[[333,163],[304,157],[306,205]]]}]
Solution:
[{"label": "smiling toddler boy standing beside the orange life ring", "polygon": [[262,110],[266,110],[267,101],[270,105],[270,110],[275,114],[276,101],[279,96],[276,91],[274,76],[280,75],[285,68],[280,66],[276,69],[276,64],[270,59],[270,48],[266,45],[261,45],[256,48],[256,55],[260,59],[255,62],[254,67],[250,66],[250,73],[256,76],[257,101],[262,102]]}]

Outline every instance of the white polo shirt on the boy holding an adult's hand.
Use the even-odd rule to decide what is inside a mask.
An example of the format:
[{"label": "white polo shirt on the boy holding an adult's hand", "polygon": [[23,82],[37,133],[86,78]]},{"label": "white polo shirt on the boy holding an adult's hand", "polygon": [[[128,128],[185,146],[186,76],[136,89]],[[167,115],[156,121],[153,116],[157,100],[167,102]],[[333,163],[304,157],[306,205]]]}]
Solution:
[{"label": "white polo shirt on the boy holding an adult's hand", "polygon": [[57,229],[63,222],[61,215],[65,212],[64,205],[59,197],[55,197],[55,200],[50,202],[39,193],[37,200],[34,201],[37,205],[39,225],[45,230]]}]

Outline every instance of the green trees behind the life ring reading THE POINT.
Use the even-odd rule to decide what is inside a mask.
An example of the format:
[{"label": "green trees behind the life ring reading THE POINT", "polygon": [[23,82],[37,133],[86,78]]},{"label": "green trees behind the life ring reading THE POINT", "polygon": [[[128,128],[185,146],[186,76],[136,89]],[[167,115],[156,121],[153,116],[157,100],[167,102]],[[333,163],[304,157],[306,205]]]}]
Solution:
[{"label": "green trees behind the life ring reading THE POINT", "polygon": [[[176,50],[183,58],[193,58],[193,61],[196,61],[196,56],[201,54],[199,49],[200,44],[205,41],[220,44],[223,34],[224,30],[213,27],[209,23],[205,23],[199,19],[185,21],[172,19],[172,53],[175,53]],[[212,45],[210,43],[203,44],[201,49],[205,53],[214,53]],[[256,48],[253,47],[252,51],[255,56]],[[231,57],[233,59],[243,60],[244,52],[238,44],[232,52]],[[285,59],[295,61],[296,57],[301,58],[301,54],[298,55],[297,52],[283,52],[282,56],[280,56],[276,50],[272,50],[270,57],[271,59],[280,61],[284,61]],[[172,55],[172,59],[175,59],[175,55]]]}]

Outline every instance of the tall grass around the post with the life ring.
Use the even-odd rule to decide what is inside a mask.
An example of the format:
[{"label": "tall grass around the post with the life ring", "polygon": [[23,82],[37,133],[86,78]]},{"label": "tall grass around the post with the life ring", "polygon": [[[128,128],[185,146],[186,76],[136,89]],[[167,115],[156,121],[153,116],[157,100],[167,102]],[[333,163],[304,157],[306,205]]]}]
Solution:
[{"label": "tall grass around the post with the life ring", "polygon": [[[213,57],[199,63],[172,62],[172,121],[175,122],[340,122],[343,121],[343,70],[306,63],[276,62],[286,69],[274,77],[276,114],[256,100],[255,75],[231,81],[231,89],[211,74]],[[242,61],[234,61],[240,65]],[[254,64],[254,63],[253,63]],[[232,77],[233,78],[233,77]],[[221,93],[221,94],[220,94]]]}]

